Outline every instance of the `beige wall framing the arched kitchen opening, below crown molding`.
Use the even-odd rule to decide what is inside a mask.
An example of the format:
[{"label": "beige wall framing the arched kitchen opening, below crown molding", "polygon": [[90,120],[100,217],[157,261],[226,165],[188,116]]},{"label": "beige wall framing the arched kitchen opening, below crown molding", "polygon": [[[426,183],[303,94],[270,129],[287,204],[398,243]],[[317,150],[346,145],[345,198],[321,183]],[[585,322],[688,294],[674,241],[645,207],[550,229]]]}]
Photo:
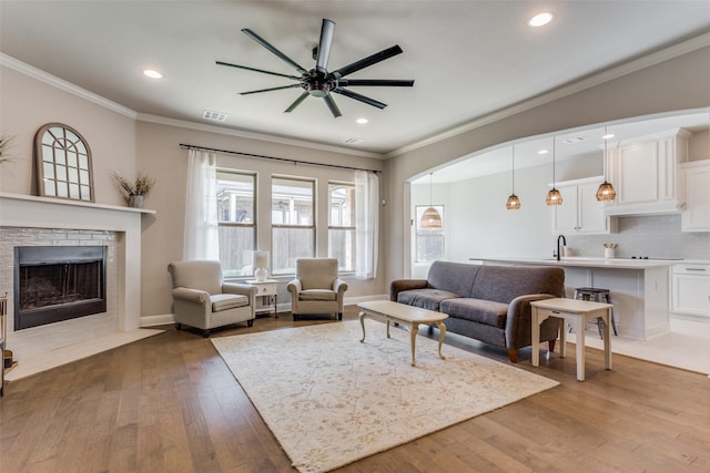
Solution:
[{"label": "beige wall framing the arched kitchen opening, below crown molding", "polygon": [[[407,181],[449,161],[527,136],[710,106],[710,48],[660,62],[387,161],[386,279],[409,274]],[[402,245],[405,241],[405,245]]]}]

